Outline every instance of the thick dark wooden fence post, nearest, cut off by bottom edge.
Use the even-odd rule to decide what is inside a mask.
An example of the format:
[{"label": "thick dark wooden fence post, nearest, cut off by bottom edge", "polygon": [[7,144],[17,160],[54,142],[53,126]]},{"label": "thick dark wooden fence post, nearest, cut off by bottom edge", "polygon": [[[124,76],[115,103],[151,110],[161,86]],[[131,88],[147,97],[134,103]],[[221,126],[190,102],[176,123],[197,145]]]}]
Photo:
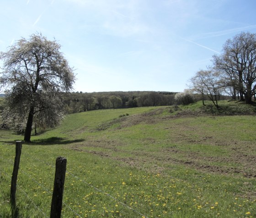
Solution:
[{"label": "thick dark wooden fence post, nearest, cut off by bottom edge", "polygon": [[66,165],[65,157],[57,157],[50,218],[60,218],[61,215]]}]

